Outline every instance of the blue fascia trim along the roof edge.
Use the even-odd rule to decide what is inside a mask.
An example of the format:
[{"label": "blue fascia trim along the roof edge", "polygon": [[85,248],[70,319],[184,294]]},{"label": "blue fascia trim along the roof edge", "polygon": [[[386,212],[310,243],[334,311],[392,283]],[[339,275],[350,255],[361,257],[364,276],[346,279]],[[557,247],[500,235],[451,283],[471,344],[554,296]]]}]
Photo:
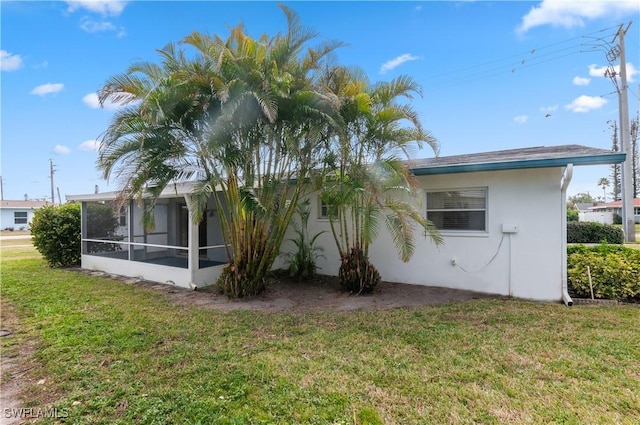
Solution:
[{"label": "blue fascia trim along the roof edge", "polygon": [[519,161],[498,161],[475,164],[457,164],[431,167],[412,168],[416,176],[435,174],[474,173],[480,171],[522,170],[527,168],[554,168],[573,165],[607,165],[624,162],[626,153],[611,153],[602,155],[576,156],[567,158],[523,159]]}]

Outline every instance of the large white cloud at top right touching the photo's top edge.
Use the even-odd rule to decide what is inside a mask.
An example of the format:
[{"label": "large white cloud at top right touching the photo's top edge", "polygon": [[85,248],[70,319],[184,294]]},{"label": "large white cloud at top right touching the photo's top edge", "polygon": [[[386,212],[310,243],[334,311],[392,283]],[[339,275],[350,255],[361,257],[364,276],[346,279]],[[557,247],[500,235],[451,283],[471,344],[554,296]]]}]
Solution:
[{"label": "large white cloud at top right touching the photo's top edge", "polygon": [[583,27],[586,21],[603,16],[634,16],[639,12],[638,0],[543,0],[531,8],[516,28],[525,33],[531,28],[552,25],[564,28]]}]

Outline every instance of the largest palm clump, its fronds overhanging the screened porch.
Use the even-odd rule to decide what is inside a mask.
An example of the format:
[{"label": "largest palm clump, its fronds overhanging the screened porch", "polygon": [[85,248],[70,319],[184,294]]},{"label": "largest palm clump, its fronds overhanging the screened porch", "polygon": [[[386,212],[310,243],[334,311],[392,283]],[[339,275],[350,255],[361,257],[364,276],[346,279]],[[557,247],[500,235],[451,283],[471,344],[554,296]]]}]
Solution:
[{"label": "largest palm clump, its fronds overhanging the screened porch", "polygon": [[319,140],[340,118],[314,78],[341,44],[309,47],[315,31],[281,8],[284,35],[254,39],[241,25],[226,39],[194,32],[182,43],[195,58],[169,45],[160,65],[135,65],[100,91],[101,101],[129,106],[103,137],[99,167],[106,177],[116,171],[123,197],[151,186],[148,213],[171,182],[197,182],[194,222],[213,196],[227,211],[220,218],[228,265],[219,284],[233,297],[264,289],[306,177],[323,156]]}]

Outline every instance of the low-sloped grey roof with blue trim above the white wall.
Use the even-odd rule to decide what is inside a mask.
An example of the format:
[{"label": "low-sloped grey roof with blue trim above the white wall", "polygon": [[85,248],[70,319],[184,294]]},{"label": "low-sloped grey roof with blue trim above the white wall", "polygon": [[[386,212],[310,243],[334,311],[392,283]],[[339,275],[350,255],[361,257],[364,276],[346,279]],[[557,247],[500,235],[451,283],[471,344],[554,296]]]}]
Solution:
[{"label": "low-sloped grey roof with blue trim above the white wall", "polygon": [[619,164],[626,154],[581,145],[537,146],[466,155],[416,159],[411,162],[415,175],[470,173],[476,171],[518,170],[573,165]]}]

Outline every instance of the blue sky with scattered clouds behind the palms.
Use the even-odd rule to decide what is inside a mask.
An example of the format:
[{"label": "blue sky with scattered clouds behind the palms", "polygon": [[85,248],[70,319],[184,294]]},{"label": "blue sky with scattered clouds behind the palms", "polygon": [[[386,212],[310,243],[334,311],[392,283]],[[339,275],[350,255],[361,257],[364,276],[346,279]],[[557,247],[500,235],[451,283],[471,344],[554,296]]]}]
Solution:
[{"label": "blue sky with scattered clouds behind the palms", "polygon": [[[284,2],[321,38],[348,44],[341,64],[372,82],[414,77],[414,101],[441,155],[540,145],[611,147],[615,86],[607,43],[626,37],[629,109],[638,110],[637,0]],[[2,1],[1,153],[4,199],[115,190],[96,170],[113,109],[95,92],[111,75],[194,30],[226,37],[243,22],[259,36],[285,30],[275,2]],[[319,39],[320,41],[320,39]],[[617,61],[614,63],[617,65]],[[431,157],[423,150],[417,156]],[[569,195],[601,195],[608,167],[579,167]],[[56,194],[57,201],[57,194]]]}]

